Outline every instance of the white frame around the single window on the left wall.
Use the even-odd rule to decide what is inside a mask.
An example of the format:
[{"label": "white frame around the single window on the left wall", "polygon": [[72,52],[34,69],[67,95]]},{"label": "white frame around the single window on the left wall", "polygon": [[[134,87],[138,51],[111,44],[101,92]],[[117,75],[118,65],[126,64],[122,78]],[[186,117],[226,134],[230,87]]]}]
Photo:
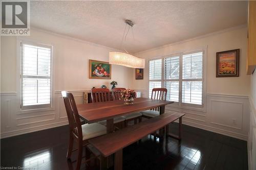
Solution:
[{"label": "white frame around the single window on the left wall", "polygon": [[[50,71],[50,104],[40,104],[40,105],[28,105],[23,106],[23,89],[22,89],[22,83],[23,83],[23,70],[22,70],[22,61],[23,61],[23,44],[28,45],[34,45],[34,46],[41,46],[41,47],[47,47],[51,49],[51,71]],[[26,39],[17,39],[17,96],[18,96],[18,111],[22,111],[24,113],[30,112],[33,110],[53,110],[54,109],[54,102],[53,102],[53,45],[52,44],[46,44],[46,43],[40,43],[36,41],[26,40]],[[27,76],[25,76],[27,77]]]}]

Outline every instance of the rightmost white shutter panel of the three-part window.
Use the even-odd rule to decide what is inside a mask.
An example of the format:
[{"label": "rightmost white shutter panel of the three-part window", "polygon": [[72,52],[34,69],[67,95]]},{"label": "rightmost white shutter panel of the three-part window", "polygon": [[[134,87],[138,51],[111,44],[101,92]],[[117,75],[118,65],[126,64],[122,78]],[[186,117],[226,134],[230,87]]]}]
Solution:
[{"label": "rightmost white shutter panel of the three-part window", "polygon": [[182,56],[182,103],[202,105],[203,52]]}]

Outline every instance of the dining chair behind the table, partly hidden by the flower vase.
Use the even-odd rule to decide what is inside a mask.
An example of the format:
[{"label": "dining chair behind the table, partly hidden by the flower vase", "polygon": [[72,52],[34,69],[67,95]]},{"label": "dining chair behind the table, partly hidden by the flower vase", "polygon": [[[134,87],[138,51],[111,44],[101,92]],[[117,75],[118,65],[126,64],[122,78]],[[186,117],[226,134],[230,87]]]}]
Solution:
[{"label": "dining chair behind the table, partly hidden by the flower vase", "polygon": [[[114,100],[121,100],[121,93],[122,91],[125,90],[125,88],[114,88],[112,90],[113,96],[114,96]],[[130,121],[134,121],[134,124],[137,124],[137,122],[141,122],[142,119],[142,113],[140,112],[136,112],[136,113],[131,113],[131,114],[127,114],[122,116],[123,118],[125,118],[125,127],[128,125],[128,123]]]}]

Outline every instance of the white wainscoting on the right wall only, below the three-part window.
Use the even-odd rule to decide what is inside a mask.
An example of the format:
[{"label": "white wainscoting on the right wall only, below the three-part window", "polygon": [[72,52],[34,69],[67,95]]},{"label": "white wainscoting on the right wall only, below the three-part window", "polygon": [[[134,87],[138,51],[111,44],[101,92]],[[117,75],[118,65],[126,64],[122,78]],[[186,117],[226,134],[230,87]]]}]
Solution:
[{"label": "white wainscoting on the right wall only, below the three-part window", "polygon": [[[136,90],[141,91],[144,98],[148,96],[147,90]],[[185,113],[183,124],[247,140],[250,116],[248,96],[207,94],[205,111],[184,109],[175,104],[165,107],[165,112],[173,111]]]}]

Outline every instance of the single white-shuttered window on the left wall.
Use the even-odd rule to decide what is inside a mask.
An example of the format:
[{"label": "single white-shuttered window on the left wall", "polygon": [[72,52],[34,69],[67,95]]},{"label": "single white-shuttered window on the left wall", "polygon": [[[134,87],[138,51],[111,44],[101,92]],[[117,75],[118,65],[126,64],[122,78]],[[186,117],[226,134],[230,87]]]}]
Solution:
[{"label": "single white-shuttered window on the left wall", "polygon": [[21,42],[20,91],[22,110],[52,105],[52,47]]}]

